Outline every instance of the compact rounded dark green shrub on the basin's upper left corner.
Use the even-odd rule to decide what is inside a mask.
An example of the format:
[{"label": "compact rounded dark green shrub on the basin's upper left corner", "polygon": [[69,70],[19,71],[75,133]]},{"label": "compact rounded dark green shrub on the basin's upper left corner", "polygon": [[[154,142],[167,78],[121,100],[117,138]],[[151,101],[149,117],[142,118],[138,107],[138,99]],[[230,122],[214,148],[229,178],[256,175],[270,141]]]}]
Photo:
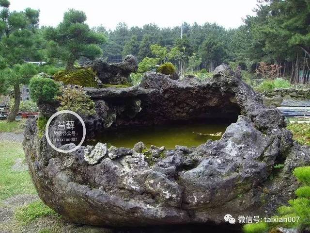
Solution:
[{"label": "compact rounded dark green shrub on the basin's upper left corner", "polygon": [[33,77],[30,80],[31,99],[50,102],[60,93],[60,84],[49,78]]}]

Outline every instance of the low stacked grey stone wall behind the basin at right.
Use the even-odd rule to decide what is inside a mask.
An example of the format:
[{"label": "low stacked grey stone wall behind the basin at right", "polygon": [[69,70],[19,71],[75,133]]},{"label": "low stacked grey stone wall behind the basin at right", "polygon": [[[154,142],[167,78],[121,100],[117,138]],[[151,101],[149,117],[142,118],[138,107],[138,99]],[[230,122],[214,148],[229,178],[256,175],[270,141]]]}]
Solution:
[{"label": "low stacked grey stone wall behind the basin at right", "polygon": [[280,96],[284,99],[307,100],[310,99],[310,89],[298,90],[295,88],[275,88],[272,92],[264,94],[267,97]]}]

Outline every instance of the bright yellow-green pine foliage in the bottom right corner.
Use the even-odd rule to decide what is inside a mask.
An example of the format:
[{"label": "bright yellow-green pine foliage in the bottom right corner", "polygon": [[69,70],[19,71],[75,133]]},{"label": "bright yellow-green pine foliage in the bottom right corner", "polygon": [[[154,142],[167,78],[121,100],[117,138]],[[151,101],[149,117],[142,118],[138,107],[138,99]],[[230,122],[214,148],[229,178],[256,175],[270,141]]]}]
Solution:
[{"label": "bright yellow-green pine foliage in the bottom right corner", "polygon": [[[277,227],[298,228],[303,231],[310,227],[310,166],[296,167],[293,171],[294,176],[302,184],[295,191],[296,199],[289,200],[288,206],[278,208],[279,218],[295,218],[296,221],[284,223],[251,223],[243,226],[245,233],[267,233],[277,232]],[[298,221],[297,221],[298,219]]]}]

